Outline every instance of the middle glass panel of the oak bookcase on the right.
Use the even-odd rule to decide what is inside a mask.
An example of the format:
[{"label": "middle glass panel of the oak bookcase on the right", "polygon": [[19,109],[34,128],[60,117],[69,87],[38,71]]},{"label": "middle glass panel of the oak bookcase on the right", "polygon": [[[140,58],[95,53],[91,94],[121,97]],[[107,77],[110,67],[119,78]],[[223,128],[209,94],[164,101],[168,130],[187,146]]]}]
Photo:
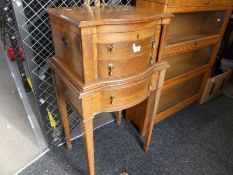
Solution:
[{"label": "middle glass panel of the oak bookcase on the right", "polygon": [[166,71],[165,80],[208,66],[212,51],[213,46],[162,59],[170,65],[170,68]]}]

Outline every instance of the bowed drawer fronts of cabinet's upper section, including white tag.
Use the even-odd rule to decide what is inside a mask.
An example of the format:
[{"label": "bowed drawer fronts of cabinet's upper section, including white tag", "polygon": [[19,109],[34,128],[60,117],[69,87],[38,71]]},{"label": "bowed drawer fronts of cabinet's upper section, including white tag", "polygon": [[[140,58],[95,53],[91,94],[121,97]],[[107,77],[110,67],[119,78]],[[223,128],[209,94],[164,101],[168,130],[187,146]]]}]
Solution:
[{"label": "bowed drawer fronts of cabinet's upper section, including white tag", "polygon": [[157,58],[160,26],[123,33],[98,34],[98,78],[140,74]]}]

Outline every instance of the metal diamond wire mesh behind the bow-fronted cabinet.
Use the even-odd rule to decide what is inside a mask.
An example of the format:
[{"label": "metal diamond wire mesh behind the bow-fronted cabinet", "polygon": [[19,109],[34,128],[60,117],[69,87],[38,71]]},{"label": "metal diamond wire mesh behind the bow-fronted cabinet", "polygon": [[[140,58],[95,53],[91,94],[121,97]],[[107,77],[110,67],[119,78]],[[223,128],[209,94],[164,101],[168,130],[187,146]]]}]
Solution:
[{"label": "metal diamond wire mesh behind the bow-fronted cabinet", "polygon": [[[93,5],[93,0],[91,4]],[[115,5],[133,5],[133,0],[105,0],[102,3]],[[27,57],[28,67],[33,80],[33,87],[38,101],[44,130],[49,142],[58,145],[64,135],[56,102],[56,95],[52,83],[51,72],[46,60],[54,55],[52,35],[46,8],[75,7],[83,4],[83,0],[13,0],[14,10],[17,11],[18,26],[22,43]],[[19,20],[20,19],[20,20]],[[22,20],[23,19],[23,20]],[[27,54],[27,53],[26,53]],[[50,125],[46,110],[52,113],[57,127]],[[70,128],[78,125],[79,120],[68,106]]]}]

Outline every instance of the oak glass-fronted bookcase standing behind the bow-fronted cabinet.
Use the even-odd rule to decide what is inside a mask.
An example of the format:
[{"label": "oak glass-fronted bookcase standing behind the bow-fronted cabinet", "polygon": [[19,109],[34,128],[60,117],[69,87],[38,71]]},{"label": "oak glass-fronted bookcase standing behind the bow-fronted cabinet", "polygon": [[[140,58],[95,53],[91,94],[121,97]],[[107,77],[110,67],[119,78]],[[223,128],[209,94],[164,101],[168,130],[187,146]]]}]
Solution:
[{"label": "oak glass-fronted bookcase standing behind the bow-fronted cabinet", "polygon": [[[137,7],[175,18],[164,25],[158,61],[166,61],[164,86],[155,117],[158,123],[200,100],[218,52],[233,0],[137,0]],[[141,113],[144,107],[138,106]],[[137,109],[134,109],[137,110]],[[141,115],[129,117],[145,134]]]}]

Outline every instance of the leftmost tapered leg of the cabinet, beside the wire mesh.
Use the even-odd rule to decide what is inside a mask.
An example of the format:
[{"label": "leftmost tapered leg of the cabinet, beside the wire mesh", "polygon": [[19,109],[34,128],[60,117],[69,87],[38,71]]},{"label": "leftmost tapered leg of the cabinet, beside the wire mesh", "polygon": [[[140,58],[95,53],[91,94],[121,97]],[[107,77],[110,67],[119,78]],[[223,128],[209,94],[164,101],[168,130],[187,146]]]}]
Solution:
[{"label": "leftmost tapered leg of the cabinet, beside the wire mesh", "polygon": [[64,128],[66,146],[67,146],[67,149],[70,151],[72,149],[72,144],[70,141],[70,127],[69,127],[69,120],[67,117],[65,96],[62,90],[62,83],[60,82],[60,80],[56,80],[56,83],[57,85],[55,87],[56,87],[56,94],[57,94],[57,102],[58,102],[59,111],[60,111],[62,124]]}]

